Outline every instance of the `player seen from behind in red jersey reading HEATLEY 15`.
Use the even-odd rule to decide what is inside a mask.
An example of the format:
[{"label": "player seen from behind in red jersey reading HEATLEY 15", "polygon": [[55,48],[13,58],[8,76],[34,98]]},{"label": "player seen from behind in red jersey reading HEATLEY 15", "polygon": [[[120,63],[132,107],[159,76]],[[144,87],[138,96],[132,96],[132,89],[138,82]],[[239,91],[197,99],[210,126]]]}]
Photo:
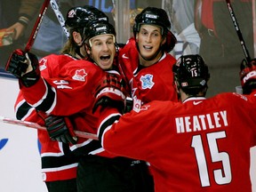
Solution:
[{"label": "player seen from behind in red jersey reading HEATLEY 15", "polygon": [[173,71],[182,103],[152,101],[124,116],[99,106],[102,147],[148,161],[156,192],[252,191],[255,101],[235,92],[205,99],[210,75],[199,55],[181,56]]}]

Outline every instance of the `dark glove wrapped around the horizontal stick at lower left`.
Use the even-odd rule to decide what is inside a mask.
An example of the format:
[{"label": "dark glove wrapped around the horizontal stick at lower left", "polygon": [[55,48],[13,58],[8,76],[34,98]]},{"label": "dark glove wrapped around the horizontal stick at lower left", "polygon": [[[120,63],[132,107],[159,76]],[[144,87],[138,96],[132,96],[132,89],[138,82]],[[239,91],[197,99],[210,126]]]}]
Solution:
[{"label": "dark glove wrapped around the horizontal stick at lower left", "polygon": [[47,116],[44,119],[47,132],[52,140],[76,144],[77,137],[68,117]]}]

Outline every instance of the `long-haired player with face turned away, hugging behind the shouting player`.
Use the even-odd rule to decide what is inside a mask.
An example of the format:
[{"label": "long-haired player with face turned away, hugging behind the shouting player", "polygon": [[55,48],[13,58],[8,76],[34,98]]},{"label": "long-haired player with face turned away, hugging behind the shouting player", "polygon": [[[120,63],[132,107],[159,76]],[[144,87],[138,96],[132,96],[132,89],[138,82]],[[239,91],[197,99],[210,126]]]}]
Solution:
[{"label": "long-haired player with face turned away, hugging behind the shouting player", "polygon": [[[85,24],[92,20],[108,20],[108,17],[89,5],[73,7],[68,11],[65,25],[71,36],[63,54],[51,54],[39,60],[41,76],[57,77],[69,61],[87,57],[83,33]],[[15,112],[17,119],[45,125],[36,108],[28,105],[21,92],[15,103]],[[47,189],[49,192],[76,192],[78,158],[70,151],[68,143],[76,144],[77,138],[72,130],[68,130],[63,116],[48,116],[46,125],[49,126],[48,132],[38,130],[38,139],[41,144],[42,176]]]}]

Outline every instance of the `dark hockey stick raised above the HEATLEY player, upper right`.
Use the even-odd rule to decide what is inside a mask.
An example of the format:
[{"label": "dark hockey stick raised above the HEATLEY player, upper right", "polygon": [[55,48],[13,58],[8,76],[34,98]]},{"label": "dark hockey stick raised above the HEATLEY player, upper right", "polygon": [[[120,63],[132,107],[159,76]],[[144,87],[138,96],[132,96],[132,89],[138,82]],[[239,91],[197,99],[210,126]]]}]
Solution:
[{"label": "dark hockey stick raised above the HEATLEY player, upper right", "polygon": [[243,38],[242,32],[241,32],[241,30],[240,30],[240,28],[238,26],[238,23],[237,23],[237,20],[236,20],[236,15],[235,15],[235,12],[233,10],[233,7],[232,7],[232,5],[230,3],[230,0],[226,0],[226,3],[228,5],[229,14],[231,16],[231,19],[233,21],[234,27],[236,29],[236,34],[237,34],[237,36],[239,38],[240,44],[241,44],[242,49],[244,51],[245,59],[247,60],[247,63],[250,63],[251,62],[251,57],[250,57],[250,54],[249,54],[249,52],[248,52],[248,50],[247,50],[247,48],[245,46],[244,38]]}]

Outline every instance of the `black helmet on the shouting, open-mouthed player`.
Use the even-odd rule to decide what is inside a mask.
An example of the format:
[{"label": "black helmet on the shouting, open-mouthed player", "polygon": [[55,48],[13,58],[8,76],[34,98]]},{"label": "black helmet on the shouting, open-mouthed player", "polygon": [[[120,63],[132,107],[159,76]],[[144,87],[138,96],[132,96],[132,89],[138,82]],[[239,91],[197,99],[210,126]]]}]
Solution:
[{"label": "black helmet on the shouting, open-mouthed player", "polygon": [[116,30],[113,27],[113,25],[111,25],[107,21],[89,22],[85,29],[85,36],[86,36],[85,41],[86,42],[89,41],[88,43],[90,44],[90,39],[92,37],[107,35],[107,34],[113,35],[114,41],[116,43]]}]

